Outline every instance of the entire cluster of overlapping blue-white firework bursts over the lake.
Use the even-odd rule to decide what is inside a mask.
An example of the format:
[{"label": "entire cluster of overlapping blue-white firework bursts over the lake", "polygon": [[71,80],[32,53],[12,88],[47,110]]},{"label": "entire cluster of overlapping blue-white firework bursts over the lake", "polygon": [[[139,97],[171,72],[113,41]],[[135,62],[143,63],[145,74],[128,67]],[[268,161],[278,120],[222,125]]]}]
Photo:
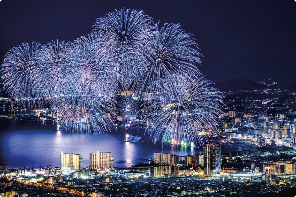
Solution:
[{"label": "entire cluster of overlapping blue-white firework bursts over the lake", "polygon": [[203,140],[199,131],[216,126],[222,103],[199,72],[199,55],[180,25],[160,26],[143,11],[121,9],[98,18],[90,34],[74,42],[12,48],[1,80],[12,99],[50,103],[62,127],[82,133],[109,131],[108,112],[130,108],[115,96],[132,90],[146,105],[143,122],[155,143],[190,144]]}]

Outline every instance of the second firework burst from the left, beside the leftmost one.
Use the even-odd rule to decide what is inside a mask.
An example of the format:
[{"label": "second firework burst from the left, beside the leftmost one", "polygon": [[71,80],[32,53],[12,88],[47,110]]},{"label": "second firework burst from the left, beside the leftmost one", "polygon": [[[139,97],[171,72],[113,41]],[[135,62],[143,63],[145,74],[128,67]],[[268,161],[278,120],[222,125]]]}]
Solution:
[{"label": "second firework burst from the left, beside the leftmost one", "polygon": [[35,79],[33,88],[44,96],[55,98],[71,91],[69,75],[74,71],[65,66],[72,53],[72,43],[65,41],[47,42],[33,55]]}]

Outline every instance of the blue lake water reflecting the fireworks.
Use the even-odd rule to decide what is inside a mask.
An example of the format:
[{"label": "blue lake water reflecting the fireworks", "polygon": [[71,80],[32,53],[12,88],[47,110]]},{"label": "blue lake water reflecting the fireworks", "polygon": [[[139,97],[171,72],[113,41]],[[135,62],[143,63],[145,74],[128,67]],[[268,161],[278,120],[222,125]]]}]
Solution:
[{"label": "blue lake water reflecting the fireworks", "polygon": [[148,163],[154,152],[171,152],[176,155],[191,155],[202,152],[188,147],[174,149],[169,145],[154,144],[144,135],[143,129],[129,129],[129,134],[140,136],[144,142],[123,142],[125,129],[113,128],[106,134],[70,134],[55,131],[53,123],[22,120],[0,120],[0,163],[18,167],[60,167],[60,153],[83,155],[83,166],[89,166],[90,152],[111,152],[114,167],[130,167]]}]

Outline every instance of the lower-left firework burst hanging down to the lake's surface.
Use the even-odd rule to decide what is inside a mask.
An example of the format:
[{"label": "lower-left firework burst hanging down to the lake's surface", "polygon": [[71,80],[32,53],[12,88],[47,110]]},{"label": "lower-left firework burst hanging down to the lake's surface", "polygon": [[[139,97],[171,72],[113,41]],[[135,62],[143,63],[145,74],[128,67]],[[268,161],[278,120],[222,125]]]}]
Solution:
[{"label": "lower-left firework burst hanging down to the lake's surface", "polygon": [[[79,90],[75,95],[63,97],[57,102],[57,111],[67,131],[72,133],[104,133],[109,131],[112,121],[108,112],[115,111],[114,100],[108,81],[94,77],[91,72],[80,75]],[[96,86],[93,86],[96,84]],[[107,86],[106,86],[107,84]],[[53,104],[52,108],[55,108]]]}]

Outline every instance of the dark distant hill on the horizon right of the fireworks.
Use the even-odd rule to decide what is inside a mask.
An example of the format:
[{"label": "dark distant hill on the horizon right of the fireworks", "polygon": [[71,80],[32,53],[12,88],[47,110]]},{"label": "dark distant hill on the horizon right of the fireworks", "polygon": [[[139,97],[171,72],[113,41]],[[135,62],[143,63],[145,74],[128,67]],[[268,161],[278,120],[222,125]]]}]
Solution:
[{"label": "dark distant hill on the horizon right of the fireworks", "polygon": [[273,88],[273,86],[267,86],[265,84],[254,82],[250,79],[233,79],[230,81],[216,81],[216,88],[220,91],[230,90],[261,90],[266,88]]}]

